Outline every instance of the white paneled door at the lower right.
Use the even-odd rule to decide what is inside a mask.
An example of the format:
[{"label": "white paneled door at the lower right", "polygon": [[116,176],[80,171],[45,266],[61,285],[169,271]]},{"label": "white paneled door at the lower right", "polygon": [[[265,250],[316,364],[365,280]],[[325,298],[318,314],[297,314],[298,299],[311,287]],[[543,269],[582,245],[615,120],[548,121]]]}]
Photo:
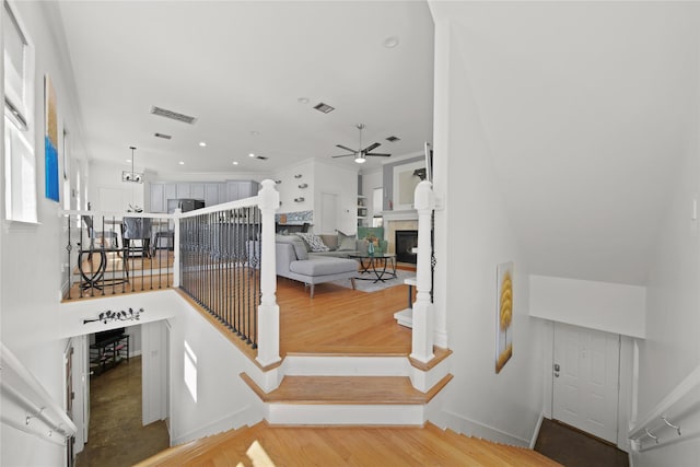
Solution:
[{"label": "white paneled door at the lower right", "polygon": [[552,417],[617,443],[619,335],[555,324]]}]

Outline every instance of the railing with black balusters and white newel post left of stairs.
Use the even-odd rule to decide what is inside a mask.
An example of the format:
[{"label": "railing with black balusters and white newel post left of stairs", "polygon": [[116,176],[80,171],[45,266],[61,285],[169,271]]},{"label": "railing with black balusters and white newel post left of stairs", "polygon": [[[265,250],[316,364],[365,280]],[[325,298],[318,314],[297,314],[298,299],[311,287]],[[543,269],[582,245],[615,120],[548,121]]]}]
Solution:
[{"label": "railing with black balusters and white newel post left of stairs", "polygon": [[258,196],[176,214],[176,284],[257,349],[265,366],[279,357],[275,211],[279,194],[264,180]]}]

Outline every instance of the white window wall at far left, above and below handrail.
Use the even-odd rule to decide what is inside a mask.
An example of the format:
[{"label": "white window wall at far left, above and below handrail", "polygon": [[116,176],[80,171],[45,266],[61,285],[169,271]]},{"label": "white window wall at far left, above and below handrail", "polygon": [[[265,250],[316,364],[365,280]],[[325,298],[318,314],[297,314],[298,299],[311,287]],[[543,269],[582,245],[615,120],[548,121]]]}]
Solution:
[{"label": "white window wall at far left, above and below handrail", "polygon": [[[44,75],[49,74],[57,94],[59,163],[62,164],[62,128],[71,132],[72,155],[84,159],[80,125],[71,80],[70,60],[62,48],[58,24],[51,20],[50,2],[12,2],[36,48],[34,93],[35,157],[39,224],[19,224],[2,220],[0,229],[0,336],[5,346],[37,377],[46,390],[63,405],[62,352],[66,339],[57,337],[61,261],[65,233],[57,203],[44,197]],[[4,164],[2,164],[4,165]],[[77,167],[71,161],[71,167]],[[59,174],[62,172],[62,165]],[[63,190],[60,189],[61,197]],[[0,191],[4,206],[4,189]],[[2,465],[62,465],[63,450],[2,425]],[[5,446],[12,446],[7,448]]]}]

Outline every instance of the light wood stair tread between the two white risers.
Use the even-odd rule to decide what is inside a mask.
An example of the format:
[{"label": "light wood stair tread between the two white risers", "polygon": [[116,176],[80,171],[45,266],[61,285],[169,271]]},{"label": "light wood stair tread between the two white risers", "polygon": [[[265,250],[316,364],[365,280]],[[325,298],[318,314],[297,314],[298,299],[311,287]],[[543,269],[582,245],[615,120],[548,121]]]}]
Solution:
[{"label": "light wood stair tread between the two white risers", "polygon": [[428,393],[411,386],[407,376],[285,376],[266,394],[245,373],[241,377],[268,404],[423,405],[452,380],[446,375]]}]

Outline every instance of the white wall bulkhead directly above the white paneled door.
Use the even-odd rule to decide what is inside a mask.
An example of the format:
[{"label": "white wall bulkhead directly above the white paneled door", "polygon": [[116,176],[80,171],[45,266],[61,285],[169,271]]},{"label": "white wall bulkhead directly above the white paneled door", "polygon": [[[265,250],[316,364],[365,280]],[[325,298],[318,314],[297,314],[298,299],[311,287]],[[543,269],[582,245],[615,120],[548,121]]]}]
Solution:
[{"label": "white wall bulkhead directly above the white paneled door", "polygon": [[529,277],[529,314],[544,319],[643,338],[646,290],[639,285]]}]

